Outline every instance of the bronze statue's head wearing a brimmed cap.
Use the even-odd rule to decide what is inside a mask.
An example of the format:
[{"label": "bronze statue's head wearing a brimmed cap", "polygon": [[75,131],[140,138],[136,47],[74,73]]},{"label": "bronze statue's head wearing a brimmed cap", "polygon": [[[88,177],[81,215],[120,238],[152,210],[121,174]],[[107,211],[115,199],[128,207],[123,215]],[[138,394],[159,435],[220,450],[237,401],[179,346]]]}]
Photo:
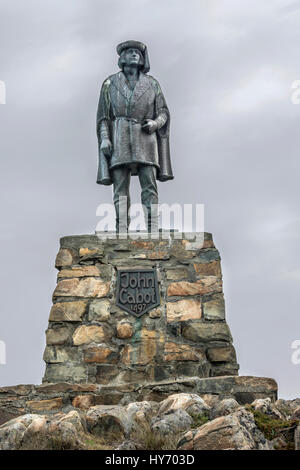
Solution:
[{"label": "bronze statue's head wearing a brimmed cap", "polygon": [[150,70],[147,46],[139,41],[125,41],[117,46],[120,56],[119,67],[123,70],[125,65],[136,65],[147,73]]}]

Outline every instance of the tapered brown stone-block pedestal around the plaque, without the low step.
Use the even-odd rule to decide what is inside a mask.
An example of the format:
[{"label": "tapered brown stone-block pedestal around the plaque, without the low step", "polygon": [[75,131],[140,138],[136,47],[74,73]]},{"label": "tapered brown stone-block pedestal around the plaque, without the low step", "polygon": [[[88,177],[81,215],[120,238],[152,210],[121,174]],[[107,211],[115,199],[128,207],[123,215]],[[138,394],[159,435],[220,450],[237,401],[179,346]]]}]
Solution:
[{"label": "tapered brown stone-block pedestal around the plaque, without the low step", "polygon": [[[164,237],[60,240],[44,383],[120,386],[238,374],[211,234]],[[159,305],[140,317],[116,305],[125,268],[157,273]]]}]

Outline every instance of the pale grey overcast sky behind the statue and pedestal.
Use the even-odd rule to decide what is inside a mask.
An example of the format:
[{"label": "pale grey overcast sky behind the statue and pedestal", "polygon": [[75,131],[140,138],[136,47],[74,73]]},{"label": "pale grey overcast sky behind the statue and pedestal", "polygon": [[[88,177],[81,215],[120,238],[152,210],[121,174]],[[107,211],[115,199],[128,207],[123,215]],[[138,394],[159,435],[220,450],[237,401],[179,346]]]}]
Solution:
[{"label": "pale grey overcast sky behind the statue and pedestal", "polygon": [[96,207],[111,202],[95,183],[95,114],[127,39],[148,45],[171,111],[175,180],[159,184],[160,202],[205,204],[240,374],[299,396],[293,0],[0,0],[0,385],[41,382],[59,238],[93,233]]}]

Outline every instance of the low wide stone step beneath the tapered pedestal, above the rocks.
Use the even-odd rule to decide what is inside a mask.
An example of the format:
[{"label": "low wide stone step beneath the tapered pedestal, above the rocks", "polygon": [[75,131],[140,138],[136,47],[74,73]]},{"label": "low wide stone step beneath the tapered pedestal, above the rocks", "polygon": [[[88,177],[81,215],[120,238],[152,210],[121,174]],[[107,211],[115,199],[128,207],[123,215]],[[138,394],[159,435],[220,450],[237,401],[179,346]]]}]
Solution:
[{"label": "low wide stone step beneath the tapered pedestal, above the rocks", "polygon": [[52,383],[0,388],[0,425],[26,413],[51,414],[96,405],[126,405],[134,401],[162,401],[174,393],[202,398],[235,398],[241,405],[257,398],[277,399],[277,383],[265,377],[187,377],[146,384],[97,385]]}]

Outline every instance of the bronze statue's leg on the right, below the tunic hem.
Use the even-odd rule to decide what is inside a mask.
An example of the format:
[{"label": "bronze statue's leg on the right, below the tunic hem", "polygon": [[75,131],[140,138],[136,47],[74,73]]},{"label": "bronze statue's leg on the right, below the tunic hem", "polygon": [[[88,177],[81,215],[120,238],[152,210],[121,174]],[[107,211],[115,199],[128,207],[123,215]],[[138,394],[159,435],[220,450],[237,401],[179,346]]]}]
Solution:
[{"label": "bronze statue's leg on the right, below the tunic hem", "polygon": [[142,189],[141,199],[145,209],[148,232],[158,232],[158,192],[156,183],[157,169],[153,165],[140,165],[138,174]]}]

